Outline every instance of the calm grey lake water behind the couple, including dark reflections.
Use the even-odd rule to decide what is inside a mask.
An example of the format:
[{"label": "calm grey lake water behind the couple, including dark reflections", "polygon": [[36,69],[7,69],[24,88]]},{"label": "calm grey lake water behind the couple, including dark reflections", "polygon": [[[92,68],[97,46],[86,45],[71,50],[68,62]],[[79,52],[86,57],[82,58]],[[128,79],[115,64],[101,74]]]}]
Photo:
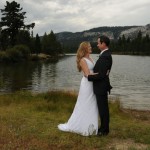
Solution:
[{"label": "calm grey lake water behind the couple, including dark reflections", "polygon": [[[93,54],[92,58],[97,60],[98,55]],[[78,91],[81,78],[75,56],[70,55],[54,63],[0,64],[0,93]],[[150,57],[113,55],[110,80],[111,97],[119,97],[123,107],[150,110]]]}]

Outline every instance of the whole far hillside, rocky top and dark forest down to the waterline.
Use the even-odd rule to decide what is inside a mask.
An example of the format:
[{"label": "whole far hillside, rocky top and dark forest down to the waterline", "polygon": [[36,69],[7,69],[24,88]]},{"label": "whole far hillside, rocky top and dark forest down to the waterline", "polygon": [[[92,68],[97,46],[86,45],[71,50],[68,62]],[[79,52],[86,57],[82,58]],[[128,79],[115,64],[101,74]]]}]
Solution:
[{"label": "whole far hillside, rocky top and dark forest down to the waterline", "polygon": [[150,25],[98,27],[83,32],[61,32],[56,37],[66,53],[75,53],[82,41],[90,41],[94,52],[97,49],[97,38],[107,35],[111,39],[114,53],[150,55]]}]

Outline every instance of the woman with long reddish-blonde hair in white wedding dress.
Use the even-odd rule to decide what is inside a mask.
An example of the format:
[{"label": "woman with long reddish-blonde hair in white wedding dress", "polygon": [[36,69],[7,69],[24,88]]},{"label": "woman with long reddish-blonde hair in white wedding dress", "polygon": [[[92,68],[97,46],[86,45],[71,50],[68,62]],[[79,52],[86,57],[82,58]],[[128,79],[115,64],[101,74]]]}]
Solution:
[{"label": "woman with long reddish-blonde hair in white wedding dress", "polygon": [[93,73],[94,61],[90,57],[92,48],[89,42],[82,42],[77,51],[77,68],[83,72],[77,102],[68,122],[59,124],[58,129],[83,136],[97,134],[98,108],[93,93],[93,83],[85,77]]}]

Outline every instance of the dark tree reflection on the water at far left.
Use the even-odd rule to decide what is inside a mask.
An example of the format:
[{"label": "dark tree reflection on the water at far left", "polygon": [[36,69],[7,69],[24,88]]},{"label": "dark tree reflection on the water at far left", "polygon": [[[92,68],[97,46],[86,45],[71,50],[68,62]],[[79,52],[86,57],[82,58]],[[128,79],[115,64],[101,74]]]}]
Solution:
[{"label": "dark tree reflection on the water at far left", "polygon": [[13,92],[27,89],[32,84],[31,77],[36,63],[1,64],[0,65],[0,91]]}]

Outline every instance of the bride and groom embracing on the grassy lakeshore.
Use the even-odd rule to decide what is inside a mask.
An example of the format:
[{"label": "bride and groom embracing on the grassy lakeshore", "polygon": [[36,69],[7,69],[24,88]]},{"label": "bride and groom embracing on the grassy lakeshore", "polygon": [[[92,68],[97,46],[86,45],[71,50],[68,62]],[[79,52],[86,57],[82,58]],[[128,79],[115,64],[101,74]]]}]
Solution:
[{"label": "bride and groom embracing on the grassy lakeshore", "polygon": [[[92,48],[89,42],[82,42],[77,51],[77,68],[83,72],[78,98],[68,122],[59,124],[58,129],[83,136],[109,133],[108,93],[111,85],[109,72],[112,56],[109,50],[110,39],[100,36],[97,46],[100,55],[96,63],[90,57]],[[98,118],[100,117],[100,126]]]}]

